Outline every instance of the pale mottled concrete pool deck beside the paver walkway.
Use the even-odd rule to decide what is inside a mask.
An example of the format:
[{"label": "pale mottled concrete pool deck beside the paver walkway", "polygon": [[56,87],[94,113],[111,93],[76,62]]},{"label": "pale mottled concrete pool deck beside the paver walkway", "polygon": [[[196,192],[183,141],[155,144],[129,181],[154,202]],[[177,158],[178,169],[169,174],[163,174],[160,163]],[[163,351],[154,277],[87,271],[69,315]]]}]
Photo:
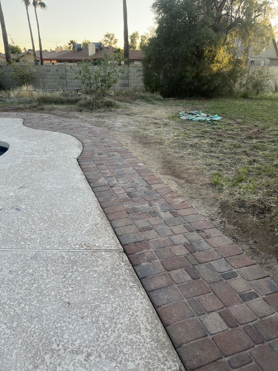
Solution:
[{"label": "pale mottled concrete pool deck beside the paver walkway", "polygon": [[70,135],[0,119],[1,370],[183,370]]}]

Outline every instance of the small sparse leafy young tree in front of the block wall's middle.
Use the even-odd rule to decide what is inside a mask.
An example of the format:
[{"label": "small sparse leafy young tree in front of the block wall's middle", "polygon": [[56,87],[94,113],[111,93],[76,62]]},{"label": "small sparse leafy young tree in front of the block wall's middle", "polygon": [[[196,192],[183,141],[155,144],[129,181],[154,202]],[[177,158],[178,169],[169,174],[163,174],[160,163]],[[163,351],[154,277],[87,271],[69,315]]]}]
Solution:
[{"label": "small sparse leafy young tree in front of the block wall's middle", "polygon": [[118,81],[119,73],[125,71],[119,70],[118,63],[120,60],[121,56],[113,57],[105,52],[97,66],[95,66],[93,59],[77,62],[77,70],[76,67],[71,66],[71,69],[77,75],[75,79],[81,79],[82,85],[89,93],[89,101],[93,107],[100,106],[100,101]]}]

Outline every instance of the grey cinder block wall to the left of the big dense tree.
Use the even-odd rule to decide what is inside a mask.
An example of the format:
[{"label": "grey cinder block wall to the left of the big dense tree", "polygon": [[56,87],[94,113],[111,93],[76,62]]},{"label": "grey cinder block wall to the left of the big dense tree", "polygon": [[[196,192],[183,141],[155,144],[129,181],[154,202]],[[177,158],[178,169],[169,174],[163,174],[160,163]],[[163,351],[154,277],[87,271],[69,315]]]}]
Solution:
[{"label": "grey cinder block wall to the left of the big dense tree", "polygon": [[[79,79],[75,79],[75,72],[70,68],[76,64],[70,65],[32,65],[34,71],[33,85],[42,89],[58,89],[58,88],[82,88],[82,83]],[[93,68],[98,68],[94,66]],[[121,66],[120,69],[125,69],[124,73],[119,73],[120,77],[115,84],[115,89],[142,88],[142,70],[140,66]],[[2,88],[10,89],[16,86],[16,82],[11,79],[12,68],[9,65],[0,65]]]}]

